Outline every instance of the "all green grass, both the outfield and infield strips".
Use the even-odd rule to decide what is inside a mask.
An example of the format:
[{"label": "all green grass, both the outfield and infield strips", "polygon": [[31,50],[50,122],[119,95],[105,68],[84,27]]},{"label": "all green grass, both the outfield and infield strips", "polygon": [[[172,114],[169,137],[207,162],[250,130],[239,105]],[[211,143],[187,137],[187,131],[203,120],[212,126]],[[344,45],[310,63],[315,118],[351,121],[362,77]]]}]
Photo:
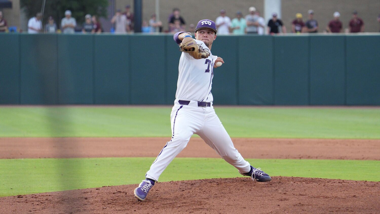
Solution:
[{"label": "all green grass, both the outfield and infield strips", "polygon": [[[380,108],[226,108],[231,137],[380,139]],[[171,107],[0,107],[0,137],[171,135]],[[154,157],[0,159],[0,197],[137,184]],[[271,176],[380,181],[376,160],[248,159]],[[222,159],[176,158],[160,181],[240,176]]]}]

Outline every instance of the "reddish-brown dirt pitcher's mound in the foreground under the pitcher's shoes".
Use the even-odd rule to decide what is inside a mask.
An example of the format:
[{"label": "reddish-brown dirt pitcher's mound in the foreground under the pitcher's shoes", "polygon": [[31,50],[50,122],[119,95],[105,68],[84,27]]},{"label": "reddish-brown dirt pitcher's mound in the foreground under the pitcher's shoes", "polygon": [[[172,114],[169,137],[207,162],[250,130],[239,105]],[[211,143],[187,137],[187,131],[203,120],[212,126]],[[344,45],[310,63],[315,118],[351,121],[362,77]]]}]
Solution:
[{"label": "reddish-brown dirt pitcher's mound in the foreground under the pitcher's shoes", "polygon": [[157,183],[146,201],[136,185],[0,198],[2,213],[378,213],[380,182],[273,177]]}]

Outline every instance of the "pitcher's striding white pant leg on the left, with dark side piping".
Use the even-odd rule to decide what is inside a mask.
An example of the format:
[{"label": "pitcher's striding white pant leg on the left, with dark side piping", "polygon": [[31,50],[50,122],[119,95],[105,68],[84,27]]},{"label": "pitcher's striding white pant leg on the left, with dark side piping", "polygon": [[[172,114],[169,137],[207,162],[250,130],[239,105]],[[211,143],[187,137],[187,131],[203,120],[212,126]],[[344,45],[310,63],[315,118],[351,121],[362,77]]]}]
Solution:
[{"label": "pitcher's striding white pant leg on the left, with dark side piping", "polygon": [[161,173],[186,146],[199,125],[186,109],[178,109],[171,119],[172,139],[166,143],[146,173],[146,178],[158,181]]}]

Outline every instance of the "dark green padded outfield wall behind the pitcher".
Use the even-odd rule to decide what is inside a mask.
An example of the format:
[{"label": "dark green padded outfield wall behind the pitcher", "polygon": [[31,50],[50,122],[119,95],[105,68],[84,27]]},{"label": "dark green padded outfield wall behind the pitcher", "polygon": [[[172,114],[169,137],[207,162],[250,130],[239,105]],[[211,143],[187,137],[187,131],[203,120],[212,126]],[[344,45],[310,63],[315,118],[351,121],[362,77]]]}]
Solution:
[{"label": "dark green padded outfield wall behind the pitcher", "polygon": [[[0,104],[172,104],[172,35],[0,34]],[[380,35],[218,36],[223,105],[380,105]]]}]

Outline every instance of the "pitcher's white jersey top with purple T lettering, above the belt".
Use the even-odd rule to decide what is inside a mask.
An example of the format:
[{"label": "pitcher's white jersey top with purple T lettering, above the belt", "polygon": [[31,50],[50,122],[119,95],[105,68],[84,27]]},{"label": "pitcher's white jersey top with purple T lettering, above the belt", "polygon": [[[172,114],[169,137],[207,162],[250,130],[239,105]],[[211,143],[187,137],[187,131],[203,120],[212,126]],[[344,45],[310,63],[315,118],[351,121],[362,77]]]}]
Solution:
[{"label": "pitcher's white jersey top with purple T lettering, above the belt", "polygon": [[[195,41],[209,50],[203,41]],[[216,59],[217,56],[212,55],[211,51],[207,59],[194,59],[190,54],[182,52],[178,66],[176,99],[212,102],[211,85]]]}]

